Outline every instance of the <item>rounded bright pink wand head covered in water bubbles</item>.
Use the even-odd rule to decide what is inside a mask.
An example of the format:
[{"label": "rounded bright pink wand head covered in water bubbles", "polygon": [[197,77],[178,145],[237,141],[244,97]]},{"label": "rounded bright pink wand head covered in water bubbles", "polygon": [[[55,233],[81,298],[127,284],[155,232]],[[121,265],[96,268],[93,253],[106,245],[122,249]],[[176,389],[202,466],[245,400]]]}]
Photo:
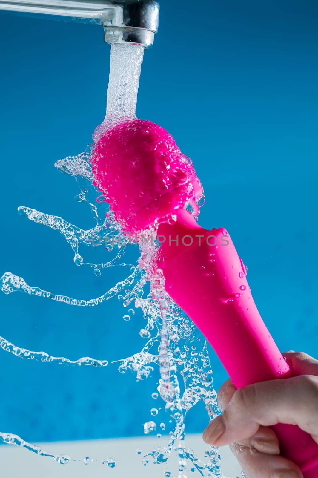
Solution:
[{"label": "rounded bright pink wand head covered in water bubbles", "polygon": [[151,121],[106,130],[95,144],[92,171],[124,232],[136,234],[188,204],[198,213],[203,190],[190,158]]}]

